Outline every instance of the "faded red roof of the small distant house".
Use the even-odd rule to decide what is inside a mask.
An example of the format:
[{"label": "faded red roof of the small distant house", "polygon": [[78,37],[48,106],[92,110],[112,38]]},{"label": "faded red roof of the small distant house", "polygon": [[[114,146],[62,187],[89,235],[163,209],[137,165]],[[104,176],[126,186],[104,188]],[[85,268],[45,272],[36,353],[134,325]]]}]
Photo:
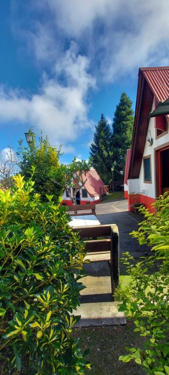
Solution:
[{"label": "faded red roof of the small distant house", "polygon": [[83,180],[87,178],[87,181],[84,185],[85,189],[88,191],[91,197],[100,195],[100,187],[103,187],[105,184],[101,180],[100,176],[95,169],[91,168],[86,175],[83,175]]}]

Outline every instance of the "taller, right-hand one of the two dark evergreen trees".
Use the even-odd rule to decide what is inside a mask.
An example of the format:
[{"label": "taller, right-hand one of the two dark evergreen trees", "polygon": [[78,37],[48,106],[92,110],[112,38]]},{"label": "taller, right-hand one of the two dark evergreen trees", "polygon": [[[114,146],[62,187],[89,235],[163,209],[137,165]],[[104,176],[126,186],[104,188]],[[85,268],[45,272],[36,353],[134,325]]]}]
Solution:
[{"label": "taller, right-hand one of the two dark evergreen trees", "polygon": [[120,103],[116,106],[112,124],[112,152],[115,180],[124,178],[127,148],[131,147],[134,124],[134,112],[131,105],[130,98],[123,92]]}]

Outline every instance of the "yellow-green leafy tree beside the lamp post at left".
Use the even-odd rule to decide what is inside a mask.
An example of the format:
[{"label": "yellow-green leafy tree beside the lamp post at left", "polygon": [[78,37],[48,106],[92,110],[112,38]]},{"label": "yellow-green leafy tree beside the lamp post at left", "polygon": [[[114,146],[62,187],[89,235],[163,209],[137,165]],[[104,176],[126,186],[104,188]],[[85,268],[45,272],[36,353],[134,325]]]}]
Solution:
[{"label": "yellow-green leafy tree beside the lamp post at left", "polygon": [[58,202],[63,193],[63,188],[56,186],[50,178],[51,169],[60,168],[59,156],[61,149],[50,146],[48,137],[40,137],[40,145],[36,146],[35,134],[32,129],[29,132],[33,135],[33,142],[28,146],[23,146],[23,140],[19,141],[18,155],[20,157],[19,167],[21,174],[27,181],[30,178],[32,166],[35,167],[34,188],[37,193],[41,194],[42,200],[47,201],[46,194],[54,195],[54,200]]}]

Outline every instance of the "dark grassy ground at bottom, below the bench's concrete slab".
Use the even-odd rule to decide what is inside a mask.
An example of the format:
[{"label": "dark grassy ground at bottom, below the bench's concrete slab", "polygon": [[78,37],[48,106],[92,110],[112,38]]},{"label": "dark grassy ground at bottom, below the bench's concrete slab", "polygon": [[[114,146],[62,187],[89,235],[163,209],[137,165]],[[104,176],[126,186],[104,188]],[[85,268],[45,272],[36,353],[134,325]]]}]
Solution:
[{"label": "dark grassy ground at bottom, below the bench's concrete slab", "polygon": [[134,324],[131,320],[125,326],[109,326],[95,328],[78,328],[73,333],[80,337],[82,350],[90,349],[87,360],[92,370],[86,375],[144,375],[141,366],[131,361],[123,363],[119,356],[126,354],[125,347],[140,347],[145,338],[133,332]]}]

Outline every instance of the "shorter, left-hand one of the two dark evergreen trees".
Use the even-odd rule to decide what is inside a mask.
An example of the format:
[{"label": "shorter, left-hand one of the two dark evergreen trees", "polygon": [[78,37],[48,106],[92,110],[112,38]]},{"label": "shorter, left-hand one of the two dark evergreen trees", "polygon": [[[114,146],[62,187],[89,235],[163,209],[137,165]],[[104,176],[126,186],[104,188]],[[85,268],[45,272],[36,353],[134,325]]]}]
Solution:
[{"label": "shorter, left-hand one of the two dark evergreen trees", "polygon": [[104,115],[101,115],[95,127],[93,142],[90,146],[92,166],[96,169],[103,182],[107,185],[112,178],[112,133]]}]

